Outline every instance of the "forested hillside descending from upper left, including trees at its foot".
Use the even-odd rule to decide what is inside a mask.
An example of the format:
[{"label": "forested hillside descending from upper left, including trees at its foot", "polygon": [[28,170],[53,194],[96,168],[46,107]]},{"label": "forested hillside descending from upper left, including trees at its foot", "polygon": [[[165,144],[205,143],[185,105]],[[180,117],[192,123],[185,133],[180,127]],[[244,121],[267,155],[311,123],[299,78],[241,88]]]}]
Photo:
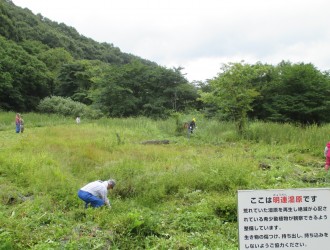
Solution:
[{"label": "forested hillside descending from upper left, including trees at its foot", "polygon": [[10,0],[0,1],[0,108],[34,111],[70,97],[105,115],[163,116],[193,104],[196,88],[168,69],[98,43]]}]

